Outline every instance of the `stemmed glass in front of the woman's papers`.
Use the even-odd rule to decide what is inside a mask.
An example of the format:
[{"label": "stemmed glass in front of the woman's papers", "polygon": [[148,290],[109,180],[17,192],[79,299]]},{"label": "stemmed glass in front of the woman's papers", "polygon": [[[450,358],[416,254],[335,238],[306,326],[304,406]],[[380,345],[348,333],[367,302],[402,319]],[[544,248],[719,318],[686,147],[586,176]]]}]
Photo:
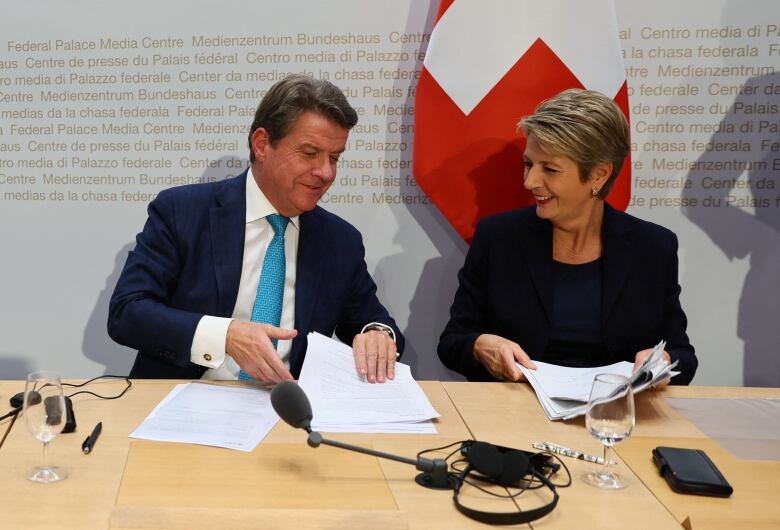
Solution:
[{"label": "stemmed glass in front of the woman's papers", "polygon": [[628,378],[618,374],[598,374],[588,399],[585,425],[604,444],[604,464],[586,474],[588,484],[603,489],[625,488],[625,479],[610,470],[610,449],[628,438],[636,423],[634,394]]}]

